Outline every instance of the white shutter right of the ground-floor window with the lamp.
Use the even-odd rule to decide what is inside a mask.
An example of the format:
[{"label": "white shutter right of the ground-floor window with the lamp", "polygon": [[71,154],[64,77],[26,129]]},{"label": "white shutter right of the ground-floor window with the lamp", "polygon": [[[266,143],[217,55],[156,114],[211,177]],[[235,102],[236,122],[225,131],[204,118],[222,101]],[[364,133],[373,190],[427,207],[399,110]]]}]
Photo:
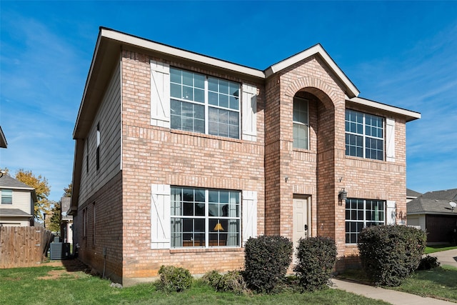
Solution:
[{"label": "white shutter right of the ground-floor window with the lamp", "polygon": [[257,236],[257,192],[243,191],[243,245],[249,237]]}]

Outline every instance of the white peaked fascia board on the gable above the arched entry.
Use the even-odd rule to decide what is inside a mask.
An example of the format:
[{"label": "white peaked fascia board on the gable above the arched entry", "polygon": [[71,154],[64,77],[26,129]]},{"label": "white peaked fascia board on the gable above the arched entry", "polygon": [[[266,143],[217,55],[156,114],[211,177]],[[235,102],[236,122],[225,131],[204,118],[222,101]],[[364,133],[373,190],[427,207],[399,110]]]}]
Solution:
[{"label": "white peaked fascia board on the gable above the arched entry", "polygon": [[328,67],[330,67],[331,71],[343,82],[344,86],[346,86],[346,89],[348,90],[348,94],[351,94],[352,96],[358,96],[360,92],[352,84],[352,81],[348,79],[348,76],[344,74],[344,72],[340,69],[340,67],[331,59],[331,57],[328,55],[326,50],[323,49],[321,44],[316,44],[316,46],[311,46],[311,48],[306,49],[305,51],[301,51],[298,54],[295,54],[288,59],[284,59],[283,61],[279,61],[277,64],[273,64],[273,66],[270,66],[268,69],[265,70],[265,75],[266,77],[269,77],[278,71],[281,71],[283,69],[286,69],[288,66],[292,66],[293,64],[296,64],[298,61],[302,61],[303,59],[307,59],[308,57],[311,57],[313,55],[318,54],[321,56],[323,61],[326,62]]}]

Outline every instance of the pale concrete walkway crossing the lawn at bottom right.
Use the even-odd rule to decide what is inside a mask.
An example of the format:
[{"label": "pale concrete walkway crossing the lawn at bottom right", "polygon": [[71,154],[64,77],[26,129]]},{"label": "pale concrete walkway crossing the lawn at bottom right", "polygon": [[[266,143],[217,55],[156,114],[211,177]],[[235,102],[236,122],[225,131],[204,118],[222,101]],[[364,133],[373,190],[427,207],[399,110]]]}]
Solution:
[{"label": "pale concrete walkway crossing the lawn at bottom right", "polygon": [[406,292],[383,289],[380,287],[357,284],[352,281],[341,281],[340,279],[331,279],[333,289],[341,289],[352,292],[370,299],[383,300],[394,305],[449,305],[456,303],[441,301],[433,298],[424,298],[415,294],[406,294]]}]

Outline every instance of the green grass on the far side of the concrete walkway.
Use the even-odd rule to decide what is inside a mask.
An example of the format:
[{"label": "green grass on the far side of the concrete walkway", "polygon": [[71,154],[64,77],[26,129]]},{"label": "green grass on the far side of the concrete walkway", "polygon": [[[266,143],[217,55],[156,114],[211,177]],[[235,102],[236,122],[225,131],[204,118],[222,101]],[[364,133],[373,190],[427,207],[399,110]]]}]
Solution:
[{"label": "green grass on the far side of the concrete walkway", "polygon": [[[368,284],[369,280],[361,269],[348,270],[338,275],[339,279],[351,279],[353,281]],[[386,287],[397,291],[429,296],[434,299],[443,299],[457,302],[457,268],[453,266],[441,266],[432,270],[416,271],[398,287]]]}]

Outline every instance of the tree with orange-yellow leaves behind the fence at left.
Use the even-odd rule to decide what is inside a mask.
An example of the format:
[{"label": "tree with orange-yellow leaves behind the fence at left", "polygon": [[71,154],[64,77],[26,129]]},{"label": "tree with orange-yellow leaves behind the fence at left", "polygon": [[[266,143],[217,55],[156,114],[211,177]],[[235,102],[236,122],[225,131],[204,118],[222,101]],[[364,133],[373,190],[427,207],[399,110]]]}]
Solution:
[{"label": "tree with orange-yellow leaves behind the fence at left", "polygon": [[27,184],[35,189],[38,202],[35,203],[35,219],[44,221],[44,213],[51,214],[51,202],[48,200],[50,193],[48,181],[41,175],[35,176],[31,171],[19,169],[16,172],[16,180]]}]

